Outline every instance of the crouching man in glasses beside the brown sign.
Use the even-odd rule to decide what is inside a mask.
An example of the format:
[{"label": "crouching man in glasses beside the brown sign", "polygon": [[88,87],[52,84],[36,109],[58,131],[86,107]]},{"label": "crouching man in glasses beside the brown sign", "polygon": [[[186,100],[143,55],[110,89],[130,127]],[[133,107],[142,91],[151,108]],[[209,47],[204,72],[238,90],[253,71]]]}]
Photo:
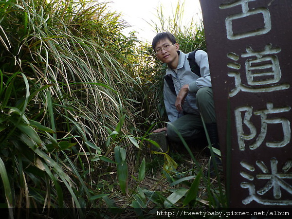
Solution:
[{"label": "crouching man in glasses beside the brown sign", "polygon": [[[204,135],[202,116],[212,146],[219,149],[207,53],[202,50],[195,53],[195,61],[200,67],[199,76],[191,71],[188,54],[179,50],[180,46],[172,34],[157,34],[152,48],[157,58],[168,65],[164,80],[164,104],[170,122],[167,127],[154,132],[166,131],[170,141],[180,142],[179,132],[186,142],[191,142]],[[173,86],[174,89],[171,88]]]}]

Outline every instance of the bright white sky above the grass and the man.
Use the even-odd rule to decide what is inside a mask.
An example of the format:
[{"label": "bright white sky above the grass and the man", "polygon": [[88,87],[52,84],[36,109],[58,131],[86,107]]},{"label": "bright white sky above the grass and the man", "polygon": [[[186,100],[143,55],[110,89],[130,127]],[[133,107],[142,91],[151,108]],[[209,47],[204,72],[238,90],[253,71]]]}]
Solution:
[{"label": "bright white sky above the grass and the man", "polygon": [[[168,18],[173,14],[179,0],[105,0],[112,11],[122,14],[131,27],[126,29],[126,33],[134,30],[140,40],[151,42],[156,33],[151,27],[151,20],[158,22],[157,8],[162,5],[164,17]],[[200,20],[201,6],[199,0],[180,0],[184,2],[183,24],[188,24],[191,18]],[[148,23],[150,24],[148,24]]]}]

